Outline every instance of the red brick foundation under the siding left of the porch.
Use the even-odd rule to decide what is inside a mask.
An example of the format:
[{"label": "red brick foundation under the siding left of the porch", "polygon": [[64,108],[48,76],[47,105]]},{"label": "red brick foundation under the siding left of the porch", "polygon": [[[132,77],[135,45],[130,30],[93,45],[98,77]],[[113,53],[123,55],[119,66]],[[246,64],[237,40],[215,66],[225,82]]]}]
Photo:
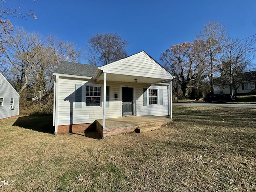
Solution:
[{"label": "red brick foundation under the siding left of the porch", "polygon": [[57,134],[74,133],[74,132],[87,132],[96,129],[96,122],[74,125],[59,125]]}]

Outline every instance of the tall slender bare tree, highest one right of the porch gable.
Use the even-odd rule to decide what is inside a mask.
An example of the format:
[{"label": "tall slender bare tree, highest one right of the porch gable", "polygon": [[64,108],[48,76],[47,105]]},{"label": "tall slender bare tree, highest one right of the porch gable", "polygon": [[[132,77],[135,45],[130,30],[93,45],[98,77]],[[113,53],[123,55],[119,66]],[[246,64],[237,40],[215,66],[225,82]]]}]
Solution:
[{"label": "tall slender bare tree, highest one right of the porch gable", "polygon": [[204,42],[205,69],[210,80],[211,92],[213,93],[213,78],[218,72],[220,54],[226,41],[226,29],[218,22],[209,22],[196,38]]}]

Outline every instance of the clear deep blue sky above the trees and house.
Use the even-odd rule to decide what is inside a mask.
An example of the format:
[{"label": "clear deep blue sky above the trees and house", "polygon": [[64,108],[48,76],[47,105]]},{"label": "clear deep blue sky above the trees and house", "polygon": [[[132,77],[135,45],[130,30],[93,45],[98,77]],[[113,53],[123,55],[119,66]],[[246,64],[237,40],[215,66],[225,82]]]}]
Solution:
[{"label": "clear deep blue sky above the trees and house", "polygon": [[6,0],[3,8],[32,10],[37,20],[10,18],[14,26],[52,34],[84,48],[90,36],[117,33],[127,54],[145,50],[159,62],[173,44],[192,42],[205,24],[218,21],[229,36],[256,34],[256,0]]}]

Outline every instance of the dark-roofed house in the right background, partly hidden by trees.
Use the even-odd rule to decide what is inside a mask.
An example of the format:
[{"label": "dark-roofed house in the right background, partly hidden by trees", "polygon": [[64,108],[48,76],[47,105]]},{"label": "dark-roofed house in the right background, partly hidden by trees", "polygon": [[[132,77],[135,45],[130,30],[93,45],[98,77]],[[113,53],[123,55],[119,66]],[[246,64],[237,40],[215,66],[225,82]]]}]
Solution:
[{"label": "dark-roofed house in the right background, partly hidden by trees", "polygon": [[[241,74],[240,86],[237,89],[237,95],[256,94],[256,71],[245,72]],[[233,89],[235,94],[235,90]],[[228,81],[219,77],[214,80],[214,94],[230,94],[230,84]]]}]

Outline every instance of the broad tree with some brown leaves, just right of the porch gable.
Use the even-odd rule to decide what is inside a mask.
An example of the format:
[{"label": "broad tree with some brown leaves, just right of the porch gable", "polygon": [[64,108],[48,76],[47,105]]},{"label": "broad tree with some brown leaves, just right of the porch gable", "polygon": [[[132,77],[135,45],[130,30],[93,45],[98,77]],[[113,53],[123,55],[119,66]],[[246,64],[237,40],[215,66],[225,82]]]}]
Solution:
[{"label": "broad tree with some brown leaves, just right of the porch gable", "polygon": [[[200,79],[203,70],[204,58],[200,54],[198,47],[200,41],[184,42],[172,45],[170,49],[162,52],[160,61],[181,83],[183,97],[188,97],[188,85],[192,80]],[[178,88],[178,86],[177,86]],[[178,90],[176,90],[178,91]]]}]

